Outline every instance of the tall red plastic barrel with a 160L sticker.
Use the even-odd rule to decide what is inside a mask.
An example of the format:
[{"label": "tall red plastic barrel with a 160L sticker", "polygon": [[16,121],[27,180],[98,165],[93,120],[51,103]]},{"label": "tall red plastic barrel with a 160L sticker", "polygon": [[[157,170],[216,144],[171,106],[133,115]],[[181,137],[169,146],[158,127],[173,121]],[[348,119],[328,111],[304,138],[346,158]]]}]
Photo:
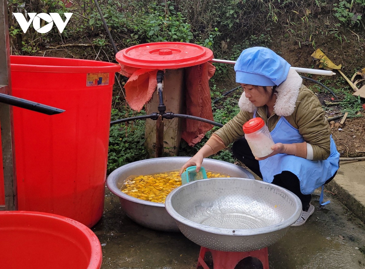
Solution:
[{"label": "tall red plastic barrel with a 160L sticker", "polygon": [[11,56],[12,95],[65,109],[14,107],[18,209],[92,227],[104,207],[114,73],[109,62]]}]

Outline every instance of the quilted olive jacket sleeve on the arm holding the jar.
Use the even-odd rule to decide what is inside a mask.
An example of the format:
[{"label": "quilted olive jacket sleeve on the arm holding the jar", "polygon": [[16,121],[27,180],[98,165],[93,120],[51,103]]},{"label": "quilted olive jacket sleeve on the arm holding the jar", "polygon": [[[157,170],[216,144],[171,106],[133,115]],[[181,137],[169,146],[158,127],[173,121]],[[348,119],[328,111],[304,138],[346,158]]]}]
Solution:
[{"label": "quilted olive jacket sleeve on the arm holding the jar", "polygon": [[330,155],[331,129],[317,96],[309,89],[299,92],[299,104],[294,120],[299,133],[312,146],[313,160],[325,160]]}]

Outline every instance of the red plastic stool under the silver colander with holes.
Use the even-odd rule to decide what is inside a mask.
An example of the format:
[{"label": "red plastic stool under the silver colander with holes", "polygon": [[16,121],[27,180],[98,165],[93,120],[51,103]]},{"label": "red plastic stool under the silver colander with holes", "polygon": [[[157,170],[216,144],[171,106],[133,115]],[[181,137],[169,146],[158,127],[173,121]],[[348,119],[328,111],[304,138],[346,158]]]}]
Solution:
[{"label": "red plastic stool under the silver colander with holes", "polygon": [[210,269],[204,262],[206,252],[212,253],[214,269],[234,269],[239,261],[247,257],[258,258],[264,266],[264,269],[269,269],[269,255],[267,247],[260,250],[246,252],[227,252],[200,247],[196,268],[198,268],[198,266],[203,266],[204,269]]}]

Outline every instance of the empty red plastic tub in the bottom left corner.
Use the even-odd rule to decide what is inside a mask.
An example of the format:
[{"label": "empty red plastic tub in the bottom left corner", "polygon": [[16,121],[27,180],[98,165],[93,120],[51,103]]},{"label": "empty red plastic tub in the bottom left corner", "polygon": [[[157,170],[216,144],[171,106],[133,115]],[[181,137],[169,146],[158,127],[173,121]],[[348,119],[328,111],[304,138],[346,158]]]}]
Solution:
[{"label": "empty red plastic tub in the bottom left corner", "polygon": [[0,212],[0,268],[99,269],[99,239],[85,225],[49,213]]}]

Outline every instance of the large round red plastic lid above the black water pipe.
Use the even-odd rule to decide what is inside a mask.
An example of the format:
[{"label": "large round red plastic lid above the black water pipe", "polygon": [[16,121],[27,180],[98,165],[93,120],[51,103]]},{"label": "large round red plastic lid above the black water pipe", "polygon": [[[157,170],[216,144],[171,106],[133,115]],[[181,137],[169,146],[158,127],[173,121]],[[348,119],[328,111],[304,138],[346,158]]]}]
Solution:
[{"label": "large round red plastic lid above the black water pipe", "polygon": [[213,52],[191,43],[155,42],[123,49],[115,58],[129,67],[177,69],[208,62],[213,58]]}]

